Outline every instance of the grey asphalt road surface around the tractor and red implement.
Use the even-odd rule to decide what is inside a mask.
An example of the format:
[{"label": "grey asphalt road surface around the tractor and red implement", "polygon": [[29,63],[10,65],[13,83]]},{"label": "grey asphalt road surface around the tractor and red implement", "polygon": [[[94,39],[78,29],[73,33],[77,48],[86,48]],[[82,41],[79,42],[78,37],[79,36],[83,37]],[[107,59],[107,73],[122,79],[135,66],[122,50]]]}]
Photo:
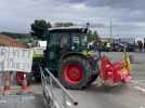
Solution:
[{"label": "grey asphalt road surface around the tractor and red implement", "polygon": [[[111,60],[118,62],[122,53],[105,53]],[[79,103],[72,108],[145,108],[145,53],[130,53],[134,57],[132,64],[132,82],[114,87],[100,86],[97,82],[83,91],[70,91]],[[41,86],[32,85],[36,95],[32,104],[23,104],[17,108],[43,108]],[[0,107],[6,108],[6,107]],[[13,107],[8,107],[13,108]],[[71,108],[71,107],[70,107]]]}]

